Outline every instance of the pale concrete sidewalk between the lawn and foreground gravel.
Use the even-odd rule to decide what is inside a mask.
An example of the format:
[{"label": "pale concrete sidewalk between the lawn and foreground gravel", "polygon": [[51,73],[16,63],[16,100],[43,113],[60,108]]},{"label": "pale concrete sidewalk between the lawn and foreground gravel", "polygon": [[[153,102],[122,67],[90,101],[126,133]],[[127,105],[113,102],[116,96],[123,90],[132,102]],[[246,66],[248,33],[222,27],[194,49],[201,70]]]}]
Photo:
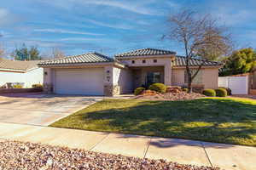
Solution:
[{"label": "pale concrete sidewalk between the lawn and foreground gravel", "polygon": [[163,139],[121,133],[99,133],[0,122],[0,139],[52,144],[183,164],[256,169],[256,148],[185,139]]}]

